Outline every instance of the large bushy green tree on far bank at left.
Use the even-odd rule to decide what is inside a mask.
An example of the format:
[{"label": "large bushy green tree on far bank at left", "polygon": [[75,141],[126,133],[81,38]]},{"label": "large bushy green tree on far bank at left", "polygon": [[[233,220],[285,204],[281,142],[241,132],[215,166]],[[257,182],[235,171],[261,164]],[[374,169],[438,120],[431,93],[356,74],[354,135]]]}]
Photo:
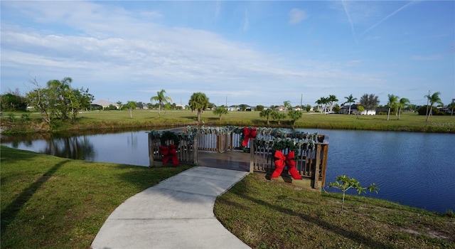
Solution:
[{"label": "large bushy green tree on far bank at left", "polygon": [[63,80],[49,80],[46,88],[31,80],[36,89],[26,94],[29,105],[36,107],[41,112],[43,120],[50,123],[53,118],[74,121],[79,110],[88,108],[94,97],[83,88],[73,89],[70,83],[72,78]]}]

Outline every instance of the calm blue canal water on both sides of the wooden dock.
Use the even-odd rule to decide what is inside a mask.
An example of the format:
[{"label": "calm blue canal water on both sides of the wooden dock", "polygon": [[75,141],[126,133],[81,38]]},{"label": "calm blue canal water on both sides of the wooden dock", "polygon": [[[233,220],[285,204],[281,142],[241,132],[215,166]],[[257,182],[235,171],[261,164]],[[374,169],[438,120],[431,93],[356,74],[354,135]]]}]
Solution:
[{"label": "calm blue canal water on both sides of the wooden dock", "polygon": [[[429,211],[455,211],[455,134],[299,129],[329,136],[326,182],[346,174],[367,194]],[[2,139],[17,149],[58,157],[149,166],[146,131],[53,139]],[[327,191],[335,189],[325,188]],[[354,193],[353,193],[354,194]]]}]

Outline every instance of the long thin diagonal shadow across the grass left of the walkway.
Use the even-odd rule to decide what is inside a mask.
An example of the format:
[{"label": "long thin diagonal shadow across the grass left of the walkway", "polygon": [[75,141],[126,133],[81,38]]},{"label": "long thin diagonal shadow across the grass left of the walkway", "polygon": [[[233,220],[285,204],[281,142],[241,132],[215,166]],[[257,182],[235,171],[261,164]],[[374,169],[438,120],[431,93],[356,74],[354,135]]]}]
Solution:
[{"label": "long thin diagonal shadow across the grass left of the walkway", "polygon": [[1,234],[6,232],[9,223],[14,221],[16,218],[17,213],[21,211],[22,206],[27,203],[27,201],[33,196],[33,194],[38,191],[38,189],[45,184],[46,181],[53,176],[55,171],[60,169],[63,164],[68,163],[70,160],[61,161],[58,164],[55,164],[52,168],[46,171],[43,176],[41,176],[38,180],[30,184],[28,188],[24,189],[21,194],[17,196],[17,198],[11,202],[6,208],[1,212]]}]

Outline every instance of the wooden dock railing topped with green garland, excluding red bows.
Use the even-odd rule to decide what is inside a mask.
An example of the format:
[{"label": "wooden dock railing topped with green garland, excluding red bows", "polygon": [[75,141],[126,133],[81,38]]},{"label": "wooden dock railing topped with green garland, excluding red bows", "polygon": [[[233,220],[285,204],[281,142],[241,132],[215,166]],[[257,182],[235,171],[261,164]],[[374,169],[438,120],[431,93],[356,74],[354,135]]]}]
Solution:
[{"label": "wooden dock railing topped with green garland, excluding red bows", "polygon": [[[303,132],[288,132],[284,129],[255,129],[255,137],[245,136],[247,127],[182,127],[149,132],[150,166],[163,166],[164,155],[160,147],[178,144],[176,157],[179,164],[198,164],[198,152],[218,152],[227,150],[250,153],[250,172],[272,174],[274,152],[288,154],[290,149],[296,154],[296,169],[302,179],[310,181],[313,188],[324,186],[328,157],[328,136]],[[174,136],[163,137],[164,132]],[[178,142],[176,141],[178,140]],[[277,146],[277,144],[280,144]],[[282,176],[287,176],[284,168]]]}]

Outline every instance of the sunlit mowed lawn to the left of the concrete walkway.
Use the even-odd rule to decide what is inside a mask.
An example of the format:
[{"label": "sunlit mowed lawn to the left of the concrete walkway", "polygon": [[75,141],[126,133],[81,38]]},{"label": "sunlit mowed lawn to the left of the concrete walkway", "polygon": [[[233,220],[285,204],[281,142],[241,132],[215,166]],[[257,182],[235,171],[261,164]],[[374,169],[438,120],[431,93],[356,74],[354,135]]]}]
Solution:
[{"label": "sunlit mowed lawn to the left of the concrete walkway", "polygon": [[79,161],[1,146],[1,248],[90,248],[123,201],[188,168]]}]

